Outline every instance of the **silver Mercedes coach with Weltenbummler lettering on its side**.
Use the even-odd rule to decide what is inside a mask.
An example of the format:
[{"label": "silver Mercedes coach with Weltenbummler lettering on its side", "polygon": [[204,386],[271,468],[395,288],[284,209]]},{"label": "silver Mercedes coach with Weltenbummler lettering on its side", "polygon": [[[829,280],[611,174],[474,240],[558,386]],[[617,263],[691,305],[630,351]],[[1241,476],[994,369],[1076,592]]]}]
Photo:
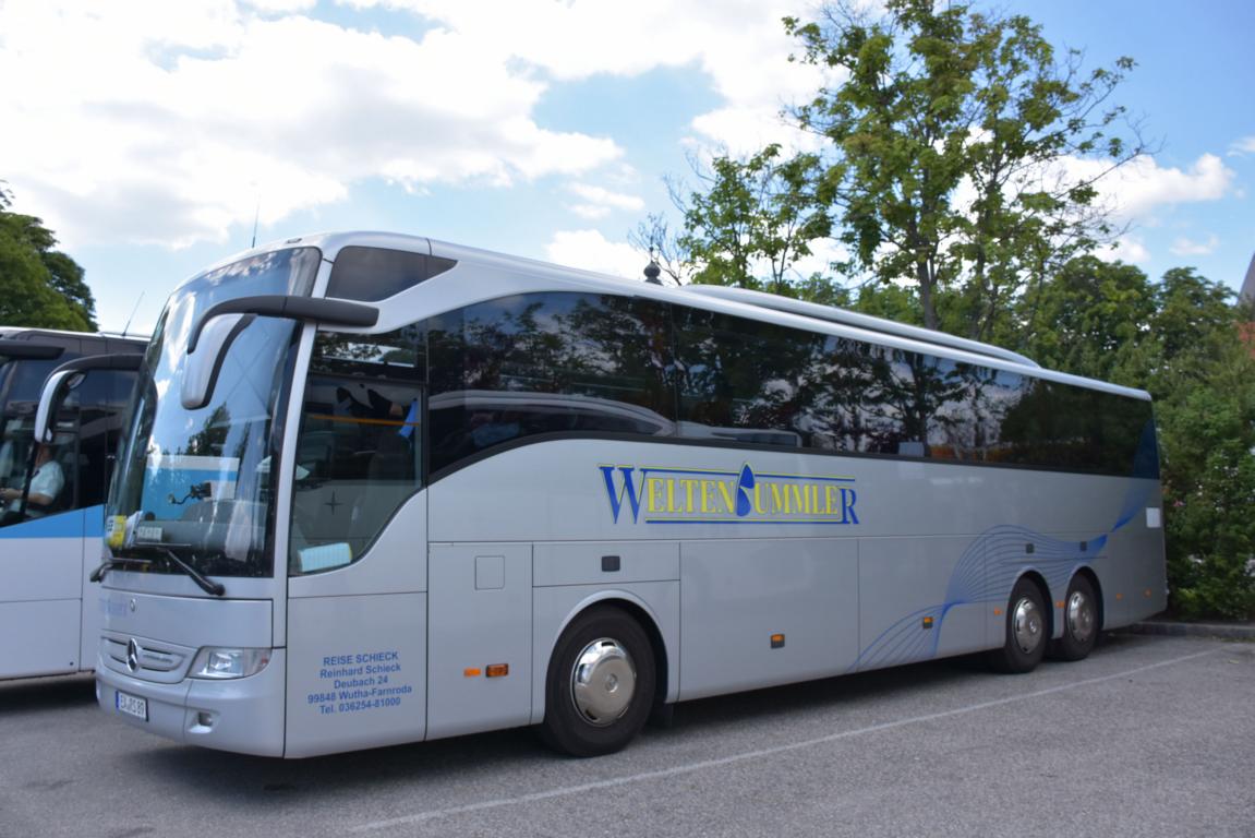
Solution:
[{"label": "silver Mercedes coach with Weltenbummler lettering on its side", "polygon": [[1165,606],[1146,393],[826,307],[321,235],[181,285],[136,391],[98,696],[182,743],[595,755]]}]

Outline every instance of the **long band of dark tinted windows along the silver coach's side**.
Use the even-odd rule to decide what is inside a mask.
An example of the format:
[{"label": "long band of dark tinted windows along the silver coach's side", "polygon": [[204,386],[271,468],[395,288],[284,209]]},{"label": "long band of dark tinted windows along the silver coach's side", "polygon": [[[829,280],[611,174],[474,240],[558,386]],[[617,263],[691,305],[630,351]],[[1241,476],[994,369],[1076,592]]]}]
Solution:
[{"label": "long band of dark tinted windows along the silver coach's side", "polygon": [[1148,417],[1135,400],[629,297],[517,295],[423,328],[434,470],[530,435],[678,432],[1122,472]]}]

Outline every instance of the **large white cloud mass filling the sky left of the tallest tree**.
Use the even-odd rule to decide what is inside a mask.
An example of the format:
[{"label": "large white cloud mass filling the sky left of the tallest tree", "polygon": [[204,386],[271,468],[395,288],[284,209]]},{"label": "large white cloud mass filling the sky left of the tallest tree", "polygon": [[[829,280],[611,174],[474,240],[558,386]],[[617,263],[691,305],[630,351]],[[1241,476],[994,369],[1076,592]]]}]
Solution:
[{"label": "large white cloud mass filling the sky left of the tallest tree", "polygon": [[21,127],[0,132],[13,187],[67,244],[221,241],[259,192],[272,224],[371,178],[422,192],[634,175],[614,139],[537,123],[567,80],[699,70],[724,102],[694,138],[748,151],[801,142],[778,112],[820,79],[786,60],[796,0],[338,1],[409,10],[419,34],[316,20],[314,0],[4,0],[0,78],[23,79],[0,85]]}]

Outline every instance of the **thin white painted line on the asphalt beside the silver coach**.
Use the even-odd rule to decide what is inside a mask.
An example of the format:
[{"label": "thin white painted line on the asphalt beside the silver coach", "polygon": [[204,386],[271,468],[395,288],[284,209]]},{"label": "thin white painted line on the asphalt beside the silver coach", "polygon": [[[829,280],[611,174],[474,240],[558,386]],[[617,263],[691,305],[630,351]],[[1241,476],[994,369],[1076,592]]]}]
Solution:
[{"label": "thin white painted line on the asphalt beside the silver coach", "polygon": [[816,739],[806,739],[797,743],[789,743],[788,745],[763,748],[756,751],[743,751],[740,754],[732,754],[729,756],[720,756],[718,759],[702,760],[699,763],[688,763],[685,765],[673,765],[671,768],[665,768],[658,771],[643,771],[640,774],[629,774],[626,776],[617,776],[610,780],[597,780],[596,783],[582,783],[580,785],[563,785],[556,789],[550,789],[547,792],[533,792],[532,794],[520,794],[518,797],[513,798],[497,798],[494,800],[482,800],[479,803],[469,803],[467,805],[461,805],[461,807],[449,807],[447,809],[432,809],[430,812],[419,812],[417,814],[404,815],[402,818],[374,820],[371,823],[364,823],[353,827],[349,829],[349,832],[374,832],[379,829],[388,829],[390,827],[403,827],[409,824],[424,823],[427,820],[435,820],[438,818],[449,818],[453,815],[467,814],[471,812],[499,809],[502,807],[517,805],[521,803],[535,803],[537,800],[562,798],[571,794],[582,794],[585,792],[595,792],[599,789],[611,789],[620,785],[629,785],[631,783],[643,783],[646,780],[659,780],[664,778],[678,776],[680,774],[692,774],[693,771],[700,771],[708,768],[719,768],[723,765],[730,765],[733,763],[743,763],[745,760],[758,759],[761,756],[787,754],[789,751],[802,750],[804,748],[813,748],[816,745],[826,745],[828,743],[840,741],[842,739],[851,739],[853,736],[862,736],[865,734],[875,734],[882,730],[894,730],[895,727],[904,727],[906,725],[916,725],[927,721],[936,721],[937,719],[949,719],[950,716],[960,716],[968,712],[976,712],[978,710],[999,707],[1001,705],[1015,704],[1017,701],[1040,699],[1042,696],[1053,695],[1055,692],[1064,692],[1067,690],[1076,690],[1077,687],[1089,686],[1091,683],[1102,683],[1104,681],[1116,681],[1119,678],[1127,678],[1128,676],[1137,675],[1138,672],[1147,672],[1150,670],[1157,670],[1162,666],[1172,666],[1173,663],[1183,663],[1185,661],[1192,661],[1195,658],[1206,657],[1207,655],[1215,655],[1220,651],[1224,650],[1212,648],[1207,650],[1206,652],[1195,652],[1194,655],[1183,655],[1181,657],[1168,658],[1167,661],[1158,661],[1157,663],[1147,663],[1146,666],[1138,666],[1136,668],[1124,670],[1123,672],[1116,672],[1113,675],[1103,675],[1097,678],[1086,678],[1084,681],[1073,681],[1072,683],[1063,683],[1057,687],[1037,690],[1034,692],[1025,692],[1023,695],[1009,696],[1007,699],[981,701],[979,704],[955,707],[953,710],[943,710],[941,712],[930,712],[922,716],[911,716],[909,719],[886,721],[878,725],[868,725],[867,727],[856,727],[855,730],[845,730],[841,731],[840,734],[830,734],[827,736],[817,736]]}]

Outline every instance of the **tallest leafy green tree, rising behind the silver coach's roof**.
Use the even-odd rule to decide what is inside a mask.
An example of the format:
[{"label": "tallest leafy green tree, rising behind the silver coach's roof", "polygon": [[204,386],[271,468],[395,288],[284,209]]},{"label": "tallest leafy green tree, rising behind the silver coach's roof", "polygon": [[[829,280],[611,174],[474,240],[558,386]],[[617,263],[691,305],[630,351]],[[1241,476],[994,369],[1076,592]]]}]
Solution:
[{"label": "tallest leafy green tree, rising behind the silver coach's roof", "polygon": [[[1094,183],[1143,151],[1112,133],[1123,109],[1104,107],[1131,59],[1082,75],[1079,54],[1057,63],[1028,18],[934,0],[786,25],[803,60],[845,75],[796,116],[828,142],[817,193],[848,268],[914,281],[929,328],[990,339],[1024,288],[1109,232]],[[1104,161],[1094,173],[1071,173],[1092,157]],[[951,323],[945,293],[965,303]]]}]

